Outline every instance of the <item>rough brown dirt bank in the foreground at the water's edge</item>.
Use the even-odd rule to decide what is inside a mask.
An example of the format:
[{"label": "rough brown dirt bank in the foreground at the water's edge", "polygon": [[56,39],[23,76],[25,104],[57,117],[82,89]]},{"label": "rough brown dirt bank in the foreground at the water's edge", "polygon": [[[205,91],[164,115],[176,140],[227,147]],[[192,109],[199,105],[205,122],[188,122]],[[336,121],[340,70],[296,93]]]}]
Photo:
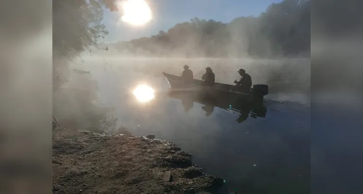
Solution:
[{"label": "rough brown dirt bank in the foreground at the water's edge", "polygon": [[53,131],[53,194],[217,194],[222,184],[167,141]]}]

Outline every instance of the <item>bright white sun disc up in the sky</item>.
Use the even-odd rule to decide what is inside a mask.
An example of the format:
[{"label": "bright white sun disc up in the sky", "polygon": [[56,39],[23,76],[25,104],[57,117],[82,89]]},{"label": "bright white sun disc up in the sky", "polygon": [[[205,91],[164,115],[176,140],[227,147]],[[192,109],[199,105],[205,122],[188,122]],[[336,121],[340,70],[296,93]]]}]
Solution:
[{"label": "bright white sun disc up in the sky", "polygon": [[145,0],[120,1],[122,7],[121,19],[134,26],[142,26],[152,18],[151,9]]}]

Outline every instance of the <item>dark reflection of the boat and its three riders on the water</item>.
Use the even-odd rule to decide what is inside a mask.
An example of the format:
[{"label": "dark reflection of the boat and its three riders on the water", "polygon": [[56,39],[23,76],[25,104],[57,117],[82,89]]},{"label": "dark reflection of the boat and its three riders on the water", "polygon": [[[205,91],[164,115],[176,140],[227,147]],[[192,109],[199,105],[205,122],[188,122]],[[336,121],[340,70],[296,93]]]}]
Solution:
[{"label": "dark reflection of the boat and its three riders on the water", "polygon": [[266,117],[267,108],[263,102],[250,102],[245,103],[243,101],[235,100],[235,98],[228,98],[220,96],[218,98],[205,97],[201,95],[194,95],[189,91],[169,91],[168,96],[175,99],[180,99],[184,107],[185,112],[189,112],[193,108],[193,103],[203,104],[202,109],[205,111],[206,116],[210,116],[215,107],[226,111],[233,111],[239,113],[239,117],[236,120],[237,123],[242,123],[248,117],[258,118]]}]

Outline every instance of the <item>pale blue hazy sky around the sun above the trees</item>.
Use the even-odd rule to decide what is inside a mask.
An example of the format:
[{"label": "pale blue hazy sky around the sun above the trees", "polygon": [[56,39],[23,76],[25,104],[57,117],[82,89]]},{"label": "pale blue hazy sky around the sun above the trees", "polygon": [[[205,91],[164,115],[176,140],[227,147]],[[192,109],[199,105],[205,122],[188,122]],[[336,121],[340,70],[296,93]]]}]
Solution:
[{"label": "pale blue hazy sky around the sun above the trees", "polygon": [[223,23],[240,16],[259,16],[268,5],[282,0],[146,0],[153,19],[142,27],[120,22],[118,12],[105,10],[103,23],[110,34],[105,42],[131,40],[168,31],[177,23],[193,17],[214,19]]}]

